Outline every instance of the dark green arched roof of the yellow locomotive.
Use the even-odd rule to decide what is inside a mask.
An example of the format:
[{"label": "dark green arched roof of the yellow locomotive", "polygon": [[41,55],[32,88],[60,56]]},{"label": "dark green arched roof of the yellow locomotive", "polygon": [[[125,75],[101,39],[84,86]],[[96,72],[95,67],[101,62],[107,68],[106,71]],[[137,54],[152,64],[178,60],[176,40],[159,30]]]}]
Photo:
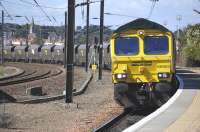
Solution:
[{"label": "dark green arched roof of the yellow locomotive", "polygon": [[169,30],[166,27],[156,22],[144,18],[139,18],[120,26],[118,29],[114,31],[114,33],[121,33],[128,30],[145,30],[145,29],[156,29],[163,32],[169,32]]}]

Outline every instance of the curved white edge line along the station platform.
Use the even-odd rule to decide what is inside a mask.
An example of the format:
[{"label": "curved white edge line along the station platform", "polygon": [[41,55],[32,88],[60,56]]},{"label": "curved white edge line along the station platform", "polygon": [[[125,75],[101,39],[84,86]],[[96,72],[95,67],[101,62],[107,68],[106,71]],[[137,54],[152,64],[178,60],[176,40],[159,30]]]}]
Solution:
[{"label": "curved white edge line along the station platform", "polygon": [[183,80],[179,76],[176,76],[176,77],[178,78],[178,81],[180,83],[179,88],[176,91],[176,93],[162,107],[160,107],[159,109],[157,109],[156,111],[148,115],[147,117],[143,118],[139,122],[135,123],[134,125],[128,127],[123,132],[134,132],[138,130],[139,128],[144,126],[146,123],[153,120],[155,117],[157,117],[158,115],[163,113],[165,110],[167,110],[167,108],[169,108],[178,99],[178,97],[181,95],[183,91],[184,83],[183,83]]}]

